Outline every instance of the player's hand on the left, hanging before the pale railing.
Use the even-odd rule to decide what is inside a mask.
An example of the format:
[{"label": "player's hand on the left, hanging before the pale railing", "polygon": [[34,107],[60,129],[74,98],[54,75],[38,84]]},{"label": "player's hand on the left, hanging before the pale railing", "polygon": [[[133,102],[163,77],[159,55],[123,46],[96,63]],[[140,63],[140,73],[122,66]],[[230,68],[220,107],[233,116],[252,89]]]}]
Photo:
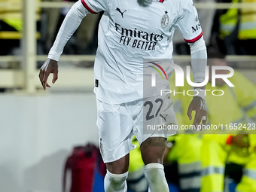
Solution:
[{"label": "player's hand on the left, hanging before the pale railing", "polygon": [[41,69],[38,75],[44,90],[46,90],[46,87],[50,87],[50,84],[47,83],[47,79],[50,73],[53,73],[52,83],[54,84],[58,79],[58,62],[53,59],[47,59],[44,62],[44,65],[41,66]]}]

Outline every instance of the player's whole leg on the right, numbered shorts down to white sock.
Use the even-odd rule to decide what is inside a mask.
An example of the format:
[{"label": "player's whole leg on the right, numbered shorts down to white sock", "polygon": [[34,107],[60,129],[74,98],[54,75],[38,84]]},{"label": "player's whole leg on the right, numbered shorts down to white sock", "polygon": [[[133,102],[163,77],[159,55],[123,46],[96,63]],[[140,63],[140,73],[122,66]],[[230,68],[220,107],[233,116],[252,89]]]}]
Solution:
[{"label": "player's whole leg on the right, numbered shorts down to white sock", "polygon": [[134,134],[140,142],[142,160],[145,163],[145,178],[151,192],[167,192],[169,187],[163,171],[163,154],[166,138],[175,134],[176,130],[158,130],[154,127],[176,123],[172,99],[168,94],[148,98],[144,101],[142,116],[142,126],[139,126],[138,133],[135,130]]}]

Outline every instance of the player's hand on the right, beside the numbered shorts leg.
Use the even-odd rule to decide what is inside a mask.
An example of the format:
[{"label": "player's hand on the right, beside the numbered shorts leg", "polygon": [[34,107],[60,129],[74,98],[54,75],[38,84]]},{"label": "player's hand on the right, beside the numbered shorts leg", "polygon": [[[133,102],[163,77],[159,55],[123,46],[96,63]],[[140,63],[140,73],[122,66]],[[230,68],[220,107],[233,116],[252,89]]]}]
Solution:
[{"label": "player's hand on the right, beside the numbered shorts leg", "polygon": [[194,96],[187,109],[187,116],[190,120],[192,120],[192,111],[196,111],[193,125],[197,128],[201,121],[202,125],[205,125],[207,120],[205,100],[202,99],[200,96]]}]

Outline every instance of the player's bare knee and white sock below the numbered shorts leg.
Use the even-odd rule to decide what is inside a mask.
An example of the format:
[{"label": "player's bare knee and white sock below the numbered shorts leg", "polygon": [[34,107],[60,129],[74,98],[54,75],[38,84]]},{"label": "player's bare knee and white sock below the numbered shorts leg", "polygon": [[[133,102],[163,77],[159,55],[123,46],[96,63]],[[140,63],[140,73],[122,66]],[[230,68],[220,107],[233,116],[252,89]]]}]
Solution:
[{"label": "player's bare knee and white sock below the numbered shorts leg", "polygon": [[151,192],[168,192],[169,187],[163,171],[163,153],[166,138],[151,137],[142,142],[142,160],[145,163],[145,178]]}]

